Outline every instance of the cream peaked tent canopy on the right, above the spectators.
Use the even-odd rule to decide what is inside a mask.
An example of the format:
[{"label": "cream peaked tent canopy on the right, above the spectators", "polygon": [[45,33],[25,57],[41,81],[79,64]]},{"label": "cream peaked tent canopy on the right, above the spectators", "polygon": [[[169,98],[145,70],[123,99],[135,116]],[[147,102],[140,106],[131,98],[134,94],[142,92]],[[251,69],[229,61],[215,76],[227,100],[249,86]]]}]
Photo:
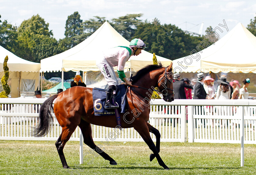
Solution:
[{"label": "cream peaked tent canopy on the right, above the spectators", "polygon": [[[205,41],[204,43],[206,43]],[[199,57],[200,59],[198,59]],[[182,72],[200,72],[201,70],[201,72],[211,71],[214,73],[256,73],[255,58],[256,37],[244,25],[238,23],[222,39],[202,52],[173,60],[173,66],[174,69],[179,67]],[[192,60],[190,65],[185,63],[190,60]]]}]

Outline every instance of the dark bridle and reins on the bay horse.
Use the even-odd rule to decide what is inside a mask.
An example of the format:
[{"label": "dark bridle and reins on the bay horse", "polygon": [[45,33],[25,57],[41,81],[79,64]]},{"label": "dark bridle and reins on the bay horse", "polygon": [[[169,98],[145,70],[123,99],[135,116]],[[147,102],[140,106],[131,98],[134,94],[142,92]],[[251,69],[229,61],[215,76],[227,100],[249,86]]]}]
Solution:
[{"label": "dark bridle and reins on the bay horse", "polygon": [[[170,88],[167,88],[167,80],[169,80],[169,81],[171,81],[172,82],[172,79],[170,79],[169,78],[169,75],[171,75],[172,74],[172,72],[167,72],[167,67],[165,67],[165,74],[160,78],[160,80],[158,80],[158,83],[160,82],[161,83],[161,81],[164,79],[165,80],[165,84],[163,85],[164,86],[164,89],[162,90],[162,91],[157,91],[157,90],[155,90],[155,89],[148,89],[148,88],[144,88],[144,87],[141,87],[141,86],[135,86],[135,85],[128,85],[128,86],[130,86],[130,88],[132,89],[132,90],[134,90],[136,93],[138,93],[140,96],[142,96],[143,98],[146,98],[146,97],[144,97],[141,93],[139,93],[139,92],[137,92],[133,87],[135,87],[135,88],[139,88],[139,89],[146,89],[146,90],[154,90],[154,91],[156,91],[156,92],[160,92],[160,93],[162,93],[162,95],[163,95],[163,99],[165,99],[165,98],[169,98],[169,96],[171,96],[171,95],[173,95],[174,93],[175,93],[175,91],[173,90],[173,89],[170,89]],[[171,90],[172,91],[172,93],[170,93],[170,94],[168,94],[168,90]],[[163,93],[164,91],[166,91],[167,93]]]}]

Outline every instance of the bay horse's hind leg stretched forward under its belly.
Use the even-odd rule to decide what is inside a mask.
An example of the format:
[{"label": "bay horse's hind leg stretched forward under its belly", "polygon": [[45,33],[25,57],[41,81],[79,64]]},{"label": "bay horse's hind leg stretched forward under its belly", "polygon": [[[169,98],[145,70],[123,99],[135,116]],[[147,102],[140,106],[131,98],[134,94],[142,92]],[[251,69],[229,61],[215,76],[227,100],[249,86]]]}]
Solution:
[{"label": "bay horse's hind leg stretched forward under its belly", "polygon": [[93,149],[99,155],[101,155],[105,160],[108,160],[111,165],[117,165],[114,159],[112,159],[107,153],[105,153],[103,150],[101,150],[98,146],[95,145],[91,136],[91,133],[92,133],[91,124],[81,119],[81,122],[78,126],[82,131],[82,134],[84,137],[84,143],[87,144],[91,149]]}]

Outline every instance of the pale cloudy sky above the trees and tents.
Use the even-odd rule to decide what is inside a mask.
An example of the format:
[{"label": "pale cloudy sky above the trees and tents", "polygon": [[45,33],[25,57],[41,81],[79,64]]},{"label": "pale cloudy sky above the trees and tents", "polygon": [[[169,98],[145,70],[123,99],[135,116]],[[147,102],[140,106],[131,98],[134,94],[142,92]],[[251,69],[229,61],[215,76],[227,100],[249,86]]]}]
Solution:
[{"label": "pale cloudy sky above the trees and tents", "polygon": [[[107,20],[126,14],[142,13],[139,19],[151,22],[157,18],[161,24],[176,25],[182,30],[199,33],[203,23],[202,34],[207,27],[215,28],[225,25],[233,29],[239,22],[245,27],[256,16],[256,1],[232,0],[0,0],[1,20],[19,26],[33,15],[40,15],[53,37],[57,40],[65,37],[65,25],[69,15],[78,12],[83,21],[94,16]],[[223,21],[224,20],[224,21]],[[222,28],[223,29],[223,28]],[[222,38],[227,30],[219,32]]]}]

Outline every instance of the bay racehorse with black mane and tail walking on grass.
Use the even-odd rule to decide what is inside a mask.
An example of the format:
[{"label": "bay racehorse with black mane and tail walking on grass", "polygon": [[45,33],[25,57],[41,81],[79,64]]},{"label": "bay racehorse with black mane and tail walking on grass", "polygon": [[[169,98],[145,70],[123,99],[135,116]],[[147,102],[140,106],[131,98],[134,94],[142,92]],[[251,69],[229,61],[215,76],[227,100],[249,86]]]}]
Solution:
[{"label": "bay racehorse with black mane and tail walking on grass", "polygon": [[[121,113],[122,128],[133,127],[147,143],[153,154],[150,155],[150,161],[155,157],[160,166],[164,169],[169,169],[161,157],[160,152],[160,133],[159,131],[148,123],[150,113],[150,97],[152,95],[152,87],[158,87],[159,92],[163,94],[163,99],[167,102],[174,100],[172,90],[172,64],[163,67],[161,62],[158,65],[148,65],[139,70],[133,77],[132,86],[127,87],[128,92],[128,112]],[[136,90],[135,90],[136,89]],[[53,101],[56,99],[54,106]],[[39,111],[39,122],[34,129],[34,136],[45,136],[52,126],[53,109],[55,116],[62,127],[62,132],[55,143],[63,168],[69,168],[66,158],[63,153],[63,148],[66,142],[79,126],[83,134],[84,143],[91,149],[95,150],[110,164],[116,165],[116,161],[112,159],[107,153],[102,151],[94,144],[92,139],[91,124],[116,128],[116,116],[94,116],[92,98],[92,88],[75,86],[69,88],[62,93],[56,94],[48,98],[41,105]],[[136,110],[138,116],[134,115]],[[156,136],[156,145],[152,141],[149,132]]]}]

